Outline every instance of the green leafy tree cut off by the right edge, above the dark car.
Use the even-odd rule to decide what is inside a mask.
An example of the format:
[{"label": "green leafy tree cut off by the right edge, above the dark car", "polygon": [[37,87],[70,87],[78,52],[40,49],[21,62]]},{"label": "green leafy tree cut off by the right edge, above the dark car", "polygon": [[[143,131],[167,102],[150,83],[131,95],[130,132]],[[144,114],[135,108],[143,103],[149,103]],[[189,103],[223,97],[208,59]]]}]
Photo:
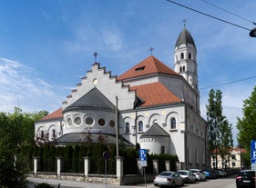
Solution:
[{"label": "green leafy tree cut off by the right edge, above the dark car", "polygon": [[238,142],[247,151],[244,154],[244,163],[249,166],[251,163],[251,140],[256,140],[256,86],[254,86],[251,96],[243,101],[242,114],[242,118],[237,118]]}]

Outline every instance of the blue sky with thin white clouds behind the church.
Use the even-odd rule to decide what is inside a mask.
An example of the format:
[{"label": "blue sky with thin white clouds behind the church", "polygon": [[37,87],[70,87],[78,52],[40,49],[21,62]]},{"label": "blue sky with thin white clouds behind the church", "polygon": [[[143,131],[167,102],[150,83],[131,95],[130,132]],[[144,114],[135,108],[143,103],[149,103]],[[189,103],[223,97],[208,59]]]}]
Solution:
[{"label": "blue sky with thin white clouds behind the church", "polygon": [[[175,0],[209,15],[252,29],[256,2]],[[208,0],[210,2],[210,0]],[[97,62],[112,75],[153,55],[173,68],[183,20],[198,50],[201,115],[210,87],[222,92],[223,113],[237,133],[243,100],[256,78],[256,38],[249,31],[190,11],[167,0],[10,0],[0,6],[0,111],[24,112],[61,107],[71,89]],[[251,22],[249,22],[249,21]]]}]

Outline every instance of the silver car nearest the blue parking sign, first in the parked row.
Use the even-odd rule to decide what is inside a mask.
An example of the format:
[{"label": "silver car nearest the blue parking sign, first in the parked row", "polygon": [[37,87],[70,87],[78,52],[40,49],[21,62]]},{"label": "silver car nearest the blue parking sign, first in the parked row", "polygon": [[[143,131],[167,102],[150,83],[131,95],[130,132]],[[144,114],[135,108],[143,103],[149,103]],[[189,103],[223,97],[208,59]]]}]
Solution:
[{"label": "silver car nearest the blue parking sign, first in the parked row", "polygon": [[154,185],[155,186],[167,185],[171,187],[183,186],[184,180],[178,173],[164,171],[162,173],[159,173],[159,175],[155,176]]}]

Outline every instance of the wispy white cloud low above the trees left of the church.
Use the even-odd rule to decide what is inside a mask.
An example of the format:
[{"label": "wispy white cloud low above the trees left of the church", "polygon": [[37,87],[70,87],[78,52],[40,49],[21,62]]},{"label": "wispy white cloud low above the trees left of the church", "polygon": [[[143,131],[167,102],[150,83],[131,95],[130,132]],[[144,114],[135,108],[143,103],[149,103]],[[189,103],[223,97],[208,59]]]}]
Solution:
[{"label": "wispy white cloud low above the trees left of the church", "polygon": [[0,58],[0,76],[1,112],[12,112],[16,106],[26,112],[52,111],[60,105],[61,99],[51,85],[38,78],[31,67]]}]

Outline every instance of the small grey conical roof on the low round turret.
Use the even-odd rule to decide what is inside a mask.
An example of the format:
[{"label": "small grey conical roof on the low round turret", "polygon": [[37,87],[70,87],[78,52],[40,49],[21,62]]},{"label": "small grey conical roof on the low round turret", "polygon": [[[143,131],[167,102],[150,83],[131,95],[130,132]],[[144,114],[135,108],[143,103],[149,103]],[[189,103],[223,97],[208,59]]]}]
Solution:
[{"label": "small grey conical roof on the low round turret", "polygon": [[140,138],[151,138],[151,137],[169,137],[169,134],[159,126],[159,124],[154,123],[147,132],[142,134]]}]

